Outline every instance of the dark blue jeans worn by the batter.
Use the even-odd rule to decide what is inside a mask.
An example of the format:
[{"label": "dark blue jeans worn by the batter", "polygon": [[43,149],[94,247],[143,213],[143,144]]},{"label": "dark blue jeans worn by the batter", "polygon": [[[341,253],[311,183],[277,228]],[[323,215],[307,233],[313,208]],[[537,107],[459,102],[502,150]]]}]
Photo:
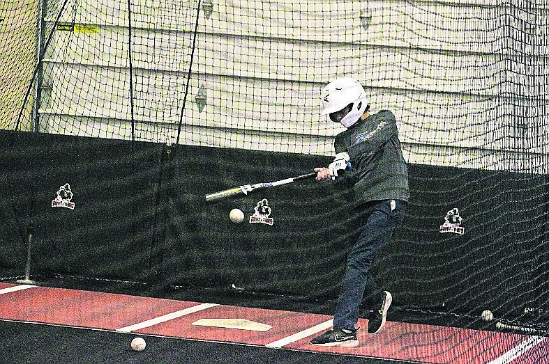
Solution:
[{"label": "dark blue jeans worn by the batter", "polygon": [[379,248],[391,240],[395,228],[402,223],[406,206],[407,203],[400,200],[382,200],[352,210],[349,233],[354,246],[347,253],[347,268],[333,317],[334,328],[354,329],[359,322],[363,298],[372,309],[373,302],[381,302],[381,291],[370,273],[370,266]]}]

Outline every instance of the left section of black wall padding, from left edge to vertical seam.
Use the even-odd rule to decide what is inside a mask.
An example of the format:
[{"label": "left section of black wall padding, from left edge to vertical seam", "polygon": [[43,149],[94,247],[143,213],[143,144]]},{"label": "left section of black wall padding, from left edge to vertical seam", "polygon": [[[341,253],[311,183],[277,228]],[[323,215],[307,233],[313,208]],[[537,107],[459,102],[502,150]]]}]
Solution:
[{"label": "left section of black wall padding, from left edge to vertical seam", "polygon": [[[51,134],[0,136],[2,226],[10,232],[2,237],[2,259],[8,267],[24,267],[31,233],[33,272],[149,278],[161,146]],[[66,186],[70,202],[52,207]]]}]

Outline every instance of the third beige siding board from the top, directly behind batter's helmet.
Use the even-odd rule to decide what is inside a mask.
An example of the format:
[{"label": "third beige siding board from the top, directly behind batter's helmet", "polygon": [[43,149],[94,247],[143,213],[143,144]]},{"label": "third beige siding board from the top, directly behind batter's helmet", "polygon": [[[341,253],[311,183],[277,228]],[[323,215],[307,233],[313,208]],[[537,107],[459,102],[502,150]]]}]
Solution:
[{"label": "third beige siding board from the top, directly behind batter's helmet", "polygon": [[[104,71],[89,69],[79,79],[58,80],[60,87],[52,88],[51,95],[51,105],[55,108],[47,112],[130,120],[129,90],[123,87],[128,86],[128,74],[124,77],[120,72],[109,74]],[[59,77],[70,77],[71,74],[66,68],[48,73]],[[103,92],[96,95],[89,95],[84,92],[85,88],[77,87],[100,83],[114,76],[118,77],[116,81],[121,87],[105,86]],[[135,79],[140,80],[135,84],[135,120],[178,125],[186,90],[183,80],[174,76],[160,81],[151,74],[139,74]],[[148,80],[153,81],[146,82]],[[69,84],[75,86],[73,92],[64,88]],[[201,86],[206,92],[202,111],[197,105]],[[281,81],[255,81],[250,85],[248,80],[239,77],[194,75],[182,122],[183,125],[236,129],[241,133],[333,136],[341,128],[318,116],[320,88],[320,84]],[[530,104],[521,99],[471,98],[390,88],[373,88],[371,91],[370,103],[374,110],[390,109],[398,117],[403,141],[468,148],[546,150],[547,132],[543,126],[547,105],[543,102]],[[522,109],[529,109],[529,115],[520,120],[516,111]],[[517,120],[525,125],[522,129],[513,127]]]}]

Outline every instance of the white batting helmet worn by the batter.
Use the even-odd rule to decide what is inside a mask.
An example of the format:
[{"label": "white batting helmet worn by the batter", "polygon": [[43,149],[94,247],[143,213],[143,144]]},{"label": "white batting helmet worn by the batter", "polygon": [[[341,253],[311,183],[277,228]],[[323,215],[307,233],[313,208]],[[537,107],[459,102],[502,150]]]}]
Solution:
[{"label": "white batting helmet worn by the batter", "polygon": [[352,109],[341,119],[344,127],[350,127],[366,111],[368,101],[366,92],[359,81],[351,77],[342,77],[331,81],[322,90],[322,105],[320,115],[328,115],[345,109],[352,104]]}]

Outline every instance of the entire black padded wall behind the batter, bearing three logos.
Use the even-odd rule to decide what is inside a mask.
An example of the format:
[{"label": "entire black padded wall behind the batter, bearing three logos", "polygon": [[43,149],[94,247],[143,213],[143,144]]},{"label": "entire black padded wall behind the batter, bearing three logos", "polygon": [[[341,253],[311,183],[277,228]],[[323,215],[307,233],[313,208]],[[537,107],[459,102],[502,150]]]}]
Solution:
[{"label": "entire black padded wall behind the batter, bearing three logos", "polygon": [[[204,199],[308,173],[329,157],[5,131],[0,143],[4,271],[24,274],[31,234],[33,274],[337,295],[347,251],[342,191],[304,180]],[[374,266],[398,305],[499,315],[546,306],[545,175],[412,164],[409,180],[405,221]],[[70,201],[56,203],[66,184]],[[264,200],[268,219],[250,223]],[[233,208],[243,223],[230,221]],[[463,235],[441,232],[454,208]]]}]

